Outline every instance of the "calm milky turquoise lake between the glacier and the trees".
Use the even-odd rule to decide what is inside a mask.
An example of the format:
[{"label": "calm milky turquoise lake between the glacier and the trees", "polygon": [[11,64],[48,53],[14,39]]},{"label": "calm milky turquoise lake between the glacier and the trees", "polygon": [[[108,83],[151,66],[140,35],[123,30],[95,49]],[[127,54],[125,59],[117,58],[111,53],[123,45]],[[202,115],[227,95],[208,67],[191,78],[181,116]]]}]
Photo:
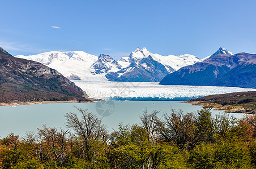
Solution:
[{"label": "calm milky turquoise lake between the glacier and the trees", "polygon": [[[25,131],[34,131],[47,127],[65,127],[65,114],[68,112],[79,113],[74,107],[88,109],[88,112],[97,114],[103,118],[111,132],[117,129],[119,123],[139,123],[139,116],[147,109],[148,113],[158,110],[159,117],[164,112],[169,113],[170,109],[182,109],[185,112],[197,112],[201,106],[194,106],[178,101],[96,101],[95,103],[58,103],[58,104],[37,104],[20,106],[0,106],[0,139],[6,137],[10,132],[23,136]],[[212,111],[219,113],[220,111]],[[241,114],[234,114],[241,117]]]}]

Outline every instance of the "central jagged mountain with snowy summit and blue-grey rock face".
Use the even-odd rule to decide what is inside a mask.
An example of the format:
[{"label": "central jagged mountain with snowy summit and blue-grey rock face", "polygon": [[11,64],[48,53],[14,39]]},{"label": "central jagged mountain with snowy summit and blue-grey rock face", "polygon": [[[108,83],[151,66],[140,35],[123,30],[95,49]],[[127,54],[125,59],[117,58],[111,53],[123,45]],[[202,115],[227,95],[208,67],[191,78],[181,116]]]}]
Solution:
[{"label": "central jagged mountain with snowy summit and blue-grey rock face", "polygon": [[152,54],[145,47],[136,48],[129,57],[122,57],[118,62],[128,66],[118,72],[109,72],[106,78],[110,81],[159,82],[165,75],[198,61],[198,57],[189,54],[161,56]]}]

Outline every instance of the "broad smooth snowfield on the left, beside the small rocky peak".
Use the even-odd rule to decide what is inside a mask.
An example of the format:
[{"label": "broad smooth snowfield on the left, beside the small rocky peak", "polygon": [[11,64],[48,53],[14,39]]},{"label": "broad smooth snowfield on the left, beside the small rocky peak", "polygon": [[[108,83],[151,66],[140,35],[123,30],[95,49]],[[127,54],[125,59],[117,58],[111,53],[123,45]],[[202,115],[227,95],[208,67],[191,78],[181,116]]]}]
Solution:
[{"label": "broad smooth snowfield on the left, beside the small rocky peak", "polygon": [[98,59],[97,56],[87,54],[83,51],[70,51],[70,52],[45,52],[37,55],[23,56],[18,55],[15,57],[38,61],[45,64],[49,68],[56,69],[65,77],[76,75],[82,80],[88,81],[108,81],[104,74],[92,74],[93,69],[90,68],[93,63]]}]

